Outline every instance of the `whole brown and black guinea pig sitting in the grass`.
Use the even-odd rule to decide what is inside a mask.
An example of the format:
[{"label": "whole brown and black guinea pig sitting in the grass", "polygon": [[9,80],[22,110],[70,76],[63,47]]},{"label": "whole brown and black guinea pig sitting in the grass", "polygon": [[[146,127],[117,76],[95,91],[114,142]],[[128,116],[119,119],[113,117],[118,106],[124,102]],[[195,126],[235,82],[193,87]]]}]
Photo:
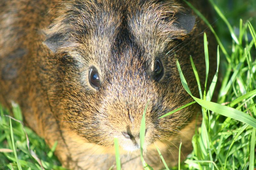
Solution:
[{"label": "whole brown and black guinea pig sitting in the grass", "polygon": [[[203,13],[205,2],[191,1]],[[203,73],[204,23],[180,0],[10,0],[0,5],[0,101],[22,109],[25,123],[70,169],[143,169],[140,122],[146,110],[144,159],[163,168],[192,151],[197,111],[192,56]],[[202,74],[204,75],[204,74]],[[203,78],[203,76],[202,76]],[[200,122],[199,122],[200,123]]]}]

